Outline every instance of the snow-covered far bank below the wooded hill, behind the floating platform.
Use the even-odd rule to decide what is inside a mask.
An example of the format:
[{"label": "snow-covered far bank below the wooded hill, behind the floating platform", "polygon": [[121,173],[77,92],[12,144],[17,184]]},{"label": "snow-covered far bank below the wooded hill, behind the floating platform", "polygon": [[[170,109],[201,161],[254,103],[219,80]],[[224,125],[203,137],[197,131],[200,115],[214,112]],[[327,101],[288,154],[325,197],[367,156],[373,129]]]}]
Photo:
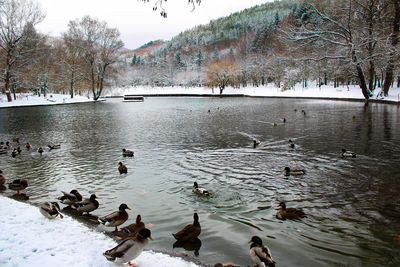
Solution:
[{"label": "snow-covered far bank below the wooded hill, behind the floating platform", "polygon": [[[381,99],[384,101],[400,102],[400,88],[391,88],[389,96],[378,96],[380,89],[376,89],[374,96],[370,99]],[[219,95],[219,89],[211,90],[208,87],[125,87],[114,88],[109,90],[106,96],[122,96],[125,94],[135,95]],[[232,88],[227,87],[223,94],[241,94],[246,96],[260,96],[260,97],[304,97],[304,98],[333,98],[333,99],[359,99],[364,100],[364,96],[358,85],[350,85],[349,87],[321,86],[310,84],[307,88],[302,88],[301,84],[297,84],[293,89],[282,91],[273,84],[259,87],[241,87]]]}]

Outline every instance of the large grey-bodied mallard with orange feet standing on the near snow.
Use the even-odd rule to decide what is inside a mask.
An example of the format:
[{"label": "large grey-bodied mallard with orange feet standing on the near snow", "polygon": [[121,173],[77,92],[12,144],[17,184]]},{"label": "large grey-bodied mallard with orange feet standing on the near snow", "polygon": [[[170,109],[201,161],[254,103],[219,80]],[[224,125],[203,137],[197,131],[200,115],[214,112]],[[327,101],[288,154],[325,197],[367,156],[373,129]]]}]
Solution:
[{"label": "large grey-bodied mallard with orange feet standing on the near snow", "polygon": [[142,253],[144,247],[149,243],[147,238],[153,240],[151,231],[144,228],[136,236],[125,239],[118,246],[104,252],[103,255],[108,261],[117,264],[127,262],[129,266],[135,266],[130,261]]}]

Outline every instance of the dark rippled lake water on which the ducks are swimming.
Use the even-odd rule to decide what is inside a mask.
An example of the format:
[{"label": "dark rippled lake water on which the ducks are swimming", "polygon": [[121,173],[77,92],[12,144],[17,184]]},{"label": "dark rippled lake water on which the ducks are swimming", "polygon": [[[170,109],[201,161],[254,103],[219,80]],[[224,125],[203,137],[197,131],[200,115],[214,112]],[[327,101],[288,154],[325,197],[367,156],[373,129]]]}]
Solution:
[{"label": "dark rippled lake water on which the ducks are swimming", "polygon": [[[84,197],[100,197],[93,212],[98,216],[126,203],[132,208],[129,223],[141,214],[151,225],[155,240],[149,249],[187,251],[204,264],[247,266],[247,241],[258,235],[278,266],[400,264],[394,239],[400,234],[396,105],[146,98],[0,109],[0,140],[13,137],[33,149],[24,148],[16,158],[0,155],[0,169],[9,180],[29,181],[28,202],[36,205],[61,190],[77,189]],[[287,146],[289,138],[295,149]],[[261,141],[256,149],[253,139]],[[61,149],[48,151],[51,143]],[[42,156],[39,146],[46,147]],[[122,148],[134,150],[135,157],[123,158]],[[341,158],[341,148],[357,158]],[[118,173],[119,161],[127,165],[127,175]],[[306,175],[286,177],[286,166],[303,168]],[[194,181],[212,197],[192,193]],[[307,217],[276,218],[274,204],[282,200],[303,208]],[[200,216],[201,242],[174,247],[171,233],[191,223],[193,212]],[[86,216],[77,219],[104,230]]]}]

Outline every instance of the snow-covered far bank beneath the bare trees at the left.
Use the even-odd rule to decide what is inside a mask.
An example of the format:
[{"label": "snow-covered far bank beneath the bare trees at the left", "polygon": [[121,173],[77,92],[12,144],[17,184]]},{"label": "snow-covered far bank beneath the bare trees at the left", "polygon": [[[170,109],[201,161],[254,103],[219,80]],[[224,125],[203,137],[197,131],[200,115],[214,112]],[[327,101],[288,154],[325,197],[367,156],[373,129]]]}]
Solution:
[{"label": "snow-covered far bank beneath the bare trees at the left", "polygon": [[32,94],[18,94],[17,99],[11,102],[7,102],[6,95],[0,95],[0,108],[1,107],[18,107],[18,106],[43,106],[43,105],[59,105],[59,104],[73,104],[73,103],[85,103],[93,102],[93,99],[89,99],[84,96],[76,95],[71,98],[69,95],[63,94],[48,94],[45,96],[37,96]]}]

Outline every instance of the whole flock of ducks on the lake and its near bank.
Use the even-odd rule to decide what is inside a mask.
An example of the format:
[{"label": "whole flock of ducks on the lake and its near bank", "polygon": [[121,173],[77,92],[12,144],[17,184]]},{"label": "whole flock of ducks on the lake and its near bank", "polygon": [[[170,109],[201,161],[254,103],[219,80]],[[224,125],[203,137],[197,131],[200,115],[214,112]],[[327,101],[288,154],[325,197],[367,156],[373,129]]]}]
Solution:
[{"label": "whole flock of ducks on the lake and its near bank", "polygon": [[[305,115],[305,112],[304,111],[302,112]],[[285,118],[284,122],[286,122]],[[19,139],[14,138],[13,142],[19,144]],[[261,144],[260,141],[253,140],[254,148],[260,146],[260,144]],[[290,148],[295,148],[295,144],[291,139],[289,139],[288,141],[288,146]],[[31,145],[29,143],[26,143],[25,147],[27,150],[31,149]],[[50,150],[61,148],[60,145],[48,145],[48,147]],[[1,142],[0,154],[7,154],[9,148],[10,148],[9,142],[6,143]],[[21,154],[21,151],[22,150],[20,146],[14,148],[11,153],[12,157],[16,157],[18,154]],[[39,147],[38,152],[42,154],[44,152],[43,148]],[[351,158],[356,157],[356,154],[354,152],[348,151],[346,149],[342,149],[341,153],[342,157],[351,157]],[[133,157],[134,152],[124,148],[122,149],[122,155],[124,157]],[[128,169],[122,162],[119,162],[118,171],[120,174],[125,174],[128,172]],[[289,167],[285,167],[284,172],[285,176],[304,175],[306,173],[305,170],[303,169],[291,169]],[[5,183],[6,183],[6,178],[2,170],[0,170],[0,186],[3,186]],[[12,182],[8,183],[8,188],[10,190],[17,191],[18,195],[20,194],[21,190],[24,190],[27,187],[28,187],[28,181],[25,179],[15,179]],[[208,190],[199,187],[197,182],[194,182],[193,184],[193,192],[201,196],[211,197],[211,193]],[[81,215],[83,213],[91,215],[90,213],[99,207],[99,202],[97,201],[97,196],[95,194],[92,194],[87,199],[83,199],[82,195],[76,189],[71,190],[69,193],[63,191],[62,193],[63,195],[58,198],[60,203],[71,207]],[[301,219],[306,217],[306,214],[303,212],[302,209],[287,208],[284,202],[280,202],[279,204],[276,204],[276,206],[280,207],[279,215],[283,219]],[[153,240],[153,238],[151,237],[150,229],[146,228],[145,224],[142,222],[140,214],[137,215],[135,223],[130,224],[126,227],[122,227],[121,229],[118,229],[118,226],[125,223],[129,218],[129,215],[126,211],[127,209],[130,210],[130,208],[125,203],[122,203],[117,211],[112,212],[106,216],[99,217],[98,221],[104,226],[115,227],[115,230],[113,232],[114,238],[120,240],[120,243],[116,247],[107,250],[103,253],[105,258],[108,261],[112,261],[117,264],[128,263],[129,266],[134,266],[134,264],[132,264],[130,261],[138,257],[148,244],[149,239]],[[39,210],[40,213],[43,214],[46,218],[54,219],[58,216],[61,219],[63,218],[60,206],[55,201],[42,203]],[[180,231],[173,233],[172,235],[178,241],[195,242],[198,239],[200,233],[201,233],[201,226],[199,223],[199,216],[197,213],[194,213],[193,223],[186,225]],[[275,260],[272,257],[271,251],[266,245],[263,245],[263,242],[260,237],[253,236],[249,241],[249,243],[251,244],[249,252],[250,258],[256,264],[256,266],[261,267],[265,265],[267,267],[275,267]],[[224,265],[221,263],[217,263],[214,265],[214,267],[220,267],[220,266]],[[233,265],[228,265],[228,266],[233,266]]]}]

